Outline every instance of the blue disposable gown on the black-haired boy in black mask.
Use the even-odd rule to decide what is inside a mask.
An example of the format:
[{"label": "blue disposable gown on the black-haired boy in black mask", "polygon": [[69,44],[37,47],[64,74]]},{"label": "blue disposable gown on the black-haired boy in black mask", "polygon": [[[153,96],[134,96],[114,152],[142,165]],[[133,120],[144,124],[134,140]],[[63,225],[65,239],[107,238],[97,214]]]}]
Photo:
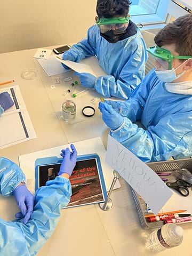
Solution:
[{"label": "blue disposable gown on the black-haired boy in black mask", "polygon": [[100,76],[95,90],[104,97],[115,96],[127,99],[145,77],[145,63],[148,55],[140,30],[117,43],[109,43],[100,35],[97,25],[89,28],[87,38],[69,50],[74,61],[96,55],[101,68],[108,76]]}]

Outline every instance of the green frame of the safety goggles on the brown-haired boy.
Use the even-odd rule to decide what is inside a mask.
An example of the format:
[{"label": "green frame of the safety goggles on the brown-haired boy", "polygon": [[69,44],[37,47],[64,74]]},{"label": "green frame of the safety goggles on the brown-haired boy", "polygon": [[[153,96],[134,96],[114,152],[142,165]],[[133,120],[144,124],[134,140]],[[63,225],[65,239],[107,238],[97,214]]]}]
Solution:
[{"label": "green frame of the safety goggles on the brown-haired boy", "polygon": [[186,56],[186,55],[173,55],[170,51],[159,47],[159,46],[150,46],[147,51],[155,56],[158,59],[165,60],[168,62],[168,68],[172,69],[172,61],[173,59],[180,59],[180,60],[188,60],[192,58],[192,56]]}]

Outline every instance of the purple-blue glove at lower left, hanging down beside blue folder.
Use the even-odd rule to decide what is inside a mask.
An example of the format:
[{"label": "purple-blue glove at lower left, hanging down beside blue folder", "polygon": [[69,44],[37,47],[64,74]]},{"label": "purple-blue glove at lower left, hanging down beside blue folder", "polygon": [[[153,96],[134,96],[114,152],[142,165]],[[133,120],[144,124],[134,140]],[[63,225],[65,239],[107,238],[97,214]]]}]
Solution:
[{"label": "purple-blue glove at lower left, hanging down beside blue folder", "polygon": [[18,219],[24,218],[23,222],[26,224],[30,219],[31,213],[33,213],[35,197],[24,184],[17,186],[13,191],[13,195],[21,210],[21,212],[15,214],[15,217]]}]

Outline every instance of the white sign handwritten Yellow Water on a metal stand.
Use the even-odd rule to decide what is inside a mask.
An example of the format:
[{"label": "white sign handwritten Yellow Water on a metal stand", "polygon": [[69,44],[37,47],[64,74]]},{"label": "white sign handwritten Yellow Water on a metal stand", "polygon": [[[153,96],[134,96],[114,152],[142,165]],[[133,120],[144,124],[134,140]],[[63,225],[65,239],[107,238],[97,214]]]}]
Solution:
[{"label": "white sign handwritten Yellow Water on a metal stand", "polygon": [[162,209],[173,194],[148,165],[110,135],[106,162],[145,200],[154,214]]}]

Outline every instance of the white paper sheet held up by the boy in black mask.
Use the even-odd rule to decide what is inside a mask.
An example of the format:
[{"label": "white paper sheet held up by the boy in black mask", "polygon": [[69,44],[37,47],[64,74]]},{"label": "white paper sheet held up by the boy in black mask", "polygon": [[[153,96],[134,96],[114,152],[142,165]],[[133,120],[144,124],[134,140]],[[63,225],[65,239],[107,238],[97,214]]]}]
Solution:
[{"label": "white paper sheet held up by the boy in black mask", "polygon": [[70,60],[62,60],[59,56],[56,56],[56,59],[78,73],[90,73],[93,76],[97,76],[95,75],[95,73],[93,72],[92,68],[89,65],[76,63]]}]

